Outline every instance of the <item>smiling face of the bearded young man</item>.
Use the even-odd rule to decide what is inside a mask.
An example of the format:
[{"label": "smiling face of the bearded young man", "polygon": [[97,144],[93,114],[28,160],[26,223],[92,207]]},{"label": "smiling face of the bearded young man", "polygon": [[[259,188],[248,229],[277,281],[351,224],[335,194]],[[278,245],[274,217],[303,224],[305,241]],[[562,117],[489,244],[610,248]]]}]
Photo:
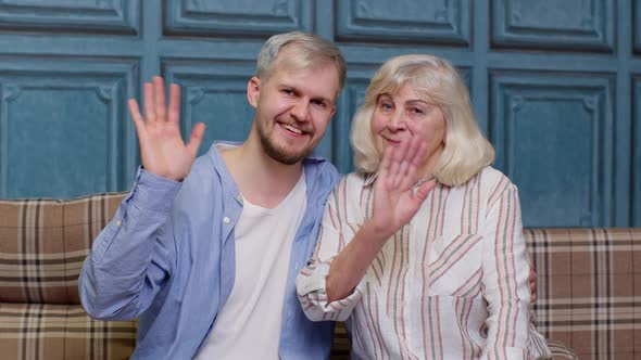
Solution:
[{"label": "smiling face of the bearded young man", "polygon": [[296,164],[320,142],[336,113],[339,73],[329,62],[316,67],[288,69],[291,49],[280,50],[267,79],[252,78],[250,104],[263,150],[282,164]]}]

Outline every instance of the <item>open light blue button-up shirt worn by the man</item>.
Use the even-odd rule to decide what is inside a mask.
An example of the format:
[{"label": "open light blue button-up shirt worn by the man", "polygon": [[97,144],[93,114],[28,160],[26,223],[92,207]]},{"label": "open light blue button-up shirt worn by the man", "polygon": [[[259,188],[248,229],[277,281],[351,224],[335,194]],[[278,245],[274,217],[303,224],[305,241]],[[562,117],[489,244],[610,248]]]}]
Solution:
[{"label": "open light blue button-up shirt worn by the man", "polygon": [[[291,249],[279,355],[326,359],[334,325],[307,320],[294,280],[312,256],[338,172],[316,157],[303,166],[307,201]],[[130,194],[95,240],[78,285],[91,317],[140,318],[131,359],[191,359],[197,352],[234,287],[241,198],[215,144],[183,182],[138,171]]]}]

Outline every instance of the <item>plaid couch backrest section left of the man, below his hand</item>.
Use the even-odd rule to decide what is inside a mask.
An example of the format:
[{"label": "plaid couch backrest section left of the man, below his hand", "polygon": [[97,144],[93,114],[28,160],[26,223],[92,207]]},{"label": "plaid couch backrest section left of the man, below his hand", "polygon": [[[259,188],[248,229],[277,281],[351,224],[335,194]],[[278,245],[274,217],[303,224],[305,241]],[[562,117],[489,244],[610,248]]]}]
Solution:
[{"label": "plaid couch backrest section left of the man, below his hand", "polygon": [[79,304],[83,261],[125,195],[0,201],[0,303]]}]

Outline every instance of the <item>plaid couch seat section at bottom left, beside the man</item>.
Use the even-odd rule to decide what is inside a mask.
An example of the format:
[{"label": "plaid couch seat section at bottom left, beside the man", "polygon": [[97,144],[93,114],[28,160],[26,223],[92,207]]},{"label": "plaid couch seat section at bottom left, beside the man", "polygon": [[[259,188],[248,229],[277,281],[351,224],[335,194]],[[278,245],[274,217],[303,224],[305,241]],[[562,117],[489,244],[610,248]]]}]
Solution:
[{"label": "plaid couch seat section at bottom left, beside the man", "polygon": [[0,304],[2,359],[128,359],[135,321],[96,321],[80,306]]}]

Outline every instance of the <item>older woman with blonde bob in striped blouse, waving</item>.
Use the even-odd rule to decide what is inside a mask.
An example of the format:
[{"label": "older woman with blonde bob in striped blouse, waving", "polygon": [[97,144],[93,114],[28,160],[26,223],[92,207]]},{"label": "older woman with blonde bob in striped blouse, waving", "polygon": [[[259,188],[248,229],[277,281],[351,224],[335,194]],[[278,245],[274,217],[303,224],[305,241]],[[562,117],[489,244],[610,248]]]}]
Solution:
[{"label": "older woman with blonde bob in striped blouse, waving", "polygon": [[297,278],[307,317],[348,320],[357,359],[549,356],[530,325],[517,189],[490,166],[454,67],[430,55],[384,64],[352,145],[356,171],[330,195]]}]

